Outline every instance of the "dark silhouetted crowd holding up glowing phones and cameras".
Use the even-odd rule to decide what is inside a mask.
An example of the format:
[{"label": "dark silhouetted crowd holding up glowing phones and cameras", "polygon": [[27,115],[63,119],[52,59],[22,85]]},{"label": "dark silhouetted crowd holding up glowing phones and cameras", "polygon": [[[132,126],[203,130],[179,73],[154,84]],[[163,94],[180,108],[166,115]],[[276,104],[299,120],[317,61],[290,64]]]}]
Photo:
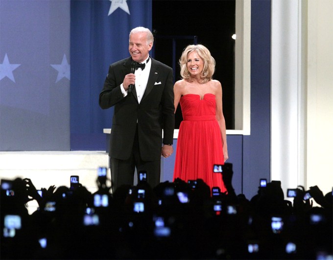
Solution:
[{"label": "dark silhouetted crowd holding up glowing phones and cameras", "polygon": [[[114,194],[99,174],[95,193],[1,180],[0,259],[333,258],[332,192],[299,186],[287,194],[291,203],[271,181],[248,199],[235,193],[232,177],[224,165],[226,193],[200,179],[150,187],[143,176]],[[30,200],[39,205],[32,214]]]}]

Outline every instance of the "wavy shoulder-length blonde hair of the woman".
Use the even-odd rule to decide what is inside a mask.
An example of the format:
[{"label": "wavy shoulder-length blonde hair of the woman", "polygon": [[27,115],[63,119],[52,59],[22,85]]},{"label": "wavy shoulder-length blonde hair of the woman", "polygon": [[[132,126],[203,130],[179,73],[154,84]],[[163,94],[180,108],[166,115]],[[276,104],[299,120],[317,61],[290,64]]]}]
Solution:
[{"label": "wavy shoulder-length blonde hair of the woman", "polygon": [[201,44],[198,45],[189,45],[186,47],[182,53],[182,56],[179,59],[180,65],[180,75],[183,79],[190,79],[190,71],[187,68],[188,55],[190,52],[196,51],[196,53],[203,59],[204,69],[202,75],[202,83],[206,83],[213,79],[213,74],[215,71],[215,59],[211,55],[209,49]]}]

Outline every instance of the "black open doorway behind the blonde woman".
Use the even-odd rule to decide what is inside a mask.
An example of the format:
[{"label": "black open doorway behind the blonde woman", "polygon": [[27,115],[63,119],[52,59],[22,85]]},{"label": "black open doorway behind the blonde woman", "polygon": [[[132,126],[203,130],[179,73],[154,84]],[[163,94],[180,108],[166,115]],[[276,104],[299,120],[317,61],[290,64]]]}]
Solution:
[{"label": "black open doorway behind the blonde woman", "polygon": [[[155,36],[154,56],[173,67],[175,50],[175,78],[180,79],[178,60],[184,48],[202,44],[216,60],[214,79],[223,90],[223,113],[227,129],[235,129],[235,7],[236,0],[153,0],[152,24]],[[175,45],[171,37],[174,36]],[[176,125],[182,121],[180,106],[176,112]]]}]

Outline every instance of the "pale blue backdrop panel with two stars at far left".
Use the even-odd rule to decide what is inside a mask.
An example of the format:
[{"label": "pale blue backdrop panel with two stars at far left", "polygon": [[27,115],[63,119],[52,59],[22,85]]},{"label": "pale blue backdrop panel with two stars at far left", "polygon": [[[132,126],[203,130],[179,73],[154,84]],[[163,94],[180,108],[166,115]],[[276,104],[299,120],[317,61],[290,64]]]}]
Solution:
[{"label": "pale blue backdrop panel with two stars at far left", "polygon": [[0,0],[0,151],[70,149],[70,1]]}]

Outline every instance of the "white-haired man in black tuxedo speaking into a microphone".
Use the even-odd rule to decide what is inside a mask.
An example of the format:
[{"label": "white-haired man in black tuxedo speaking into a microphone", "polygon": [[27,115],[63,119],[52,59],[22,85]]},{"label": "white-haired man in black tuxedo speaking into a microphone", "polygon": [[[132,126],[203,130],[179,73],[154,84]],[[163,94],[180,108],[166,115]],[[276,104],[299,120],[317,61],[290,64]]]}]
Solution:
[{"label": "white-haired man in black tuxedo speaking into a microphone", "polygon": [[160,183],[161,156],[173,152],[173,74],[149,56],[153,41],[149,29],[131,30],[131,57],[110,65],[99,94],[102,109],[114,106],[109,152],[113,192],[123,184],[133,185],[135,168],[146,171],[147,182],[155,187]]}]

